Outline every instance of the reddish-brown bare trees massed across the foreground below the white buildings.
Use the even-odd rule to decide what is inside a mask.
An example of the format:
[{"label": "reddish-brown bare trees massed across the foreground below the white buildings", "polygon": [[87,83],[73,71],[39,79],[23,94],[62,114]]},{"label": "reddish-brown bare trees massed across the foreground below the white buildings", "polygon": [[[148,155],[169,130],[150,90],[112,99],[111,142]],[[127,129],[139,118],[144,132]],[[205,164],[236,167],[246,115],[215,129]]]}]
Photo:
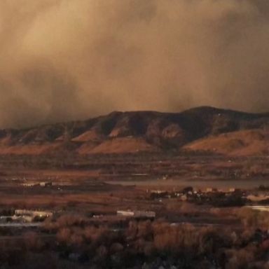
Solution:
[{"label": "reddish-brown bare trees massed across the foreground below the white buildings", "polygon": [[89,226],[78,216],[48,221],[43,234],[1,242],[3,268],[269,268],[268,214],[240,209],[240,227],[130,221]]}]

